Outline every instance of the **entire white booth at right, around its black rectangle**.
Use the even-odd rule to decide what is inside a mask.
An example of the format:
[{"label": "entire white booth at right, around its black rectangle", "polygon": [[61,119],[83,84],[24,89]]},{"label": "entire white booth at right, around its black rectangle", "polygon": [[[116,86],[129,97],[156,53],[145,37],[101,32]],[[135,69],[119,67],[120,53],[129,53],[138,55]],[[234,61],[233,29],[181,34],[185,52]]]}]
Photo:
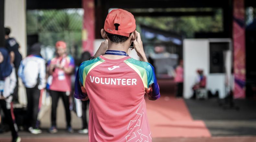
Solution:
[{"label": "entire white booth at right, around its black rectangle", "polygon": [[[197,76],[196,70],[203,69],[204,75],[207,77],[207,90],[212,93],[219,91],[219,97],[226,96],[225,73],[209,73],[210,68],[210,42],[229,42],[229,57],[225,60],[225,64],[231,64],[231,40],[226,38],[215,39],[184,39],[183,41],[183,59],[184,59],[184,98],[190,98],[193,94],[192,86]],[[227,61],[230,60],[230,61]],[[227,65],[226,65],[227,66]],[[230,65],[229,65],[230,66]],[[230,67],[228,68],[230,70]]]}]

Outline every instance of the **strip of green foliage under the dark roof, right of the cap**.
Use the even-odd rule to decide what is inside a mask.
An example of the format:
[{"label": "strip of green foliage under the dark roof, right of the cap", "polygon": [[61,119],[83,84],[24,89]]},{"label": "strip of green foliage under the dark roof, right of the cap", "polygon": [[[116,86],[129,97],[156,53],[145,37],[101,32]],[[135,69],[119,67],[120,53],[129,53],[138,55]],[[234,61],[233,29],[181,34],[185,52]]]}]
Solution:
[{"label": "strip of green foliage under the dark roof, right of the cap", "polygon": [[[181,9],[184,11],[185,8]],[[181,17],[135,17],[137,25],[147,25],[166,31],[174,31],[193,38],[196,32],[221,32],[222,11],[215,10],[214,16],[181,16]]]}]

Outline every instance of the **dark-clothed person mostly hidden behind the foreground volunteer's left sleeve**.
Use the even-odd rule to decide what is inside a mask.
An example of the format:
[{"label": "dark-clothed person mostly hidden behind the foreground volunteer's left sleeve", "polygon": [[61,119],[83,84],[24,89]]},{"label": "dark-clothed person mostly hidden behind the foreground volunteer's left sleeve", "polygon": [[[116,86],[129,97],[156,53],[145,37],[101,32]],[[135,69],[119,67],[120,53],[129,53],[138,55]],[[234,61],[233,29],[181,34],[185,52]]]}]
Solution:
[{"label": "dark-clothed person mostly hidden behind the foreground volunteer's left sleeve", "polygon": [[[81,59],[80,59],[80,64],[82,64],[84,61],[88,61],[91,57],[91,54],[88,51],[85,51],[82,53]],[[88,123],[87,123],[87,104],[89,103],[89,100],[86,101],[81,101],[82,102],[82,129],[78,130],[78,133],[80,134],[87,134],[88,133]]]}]

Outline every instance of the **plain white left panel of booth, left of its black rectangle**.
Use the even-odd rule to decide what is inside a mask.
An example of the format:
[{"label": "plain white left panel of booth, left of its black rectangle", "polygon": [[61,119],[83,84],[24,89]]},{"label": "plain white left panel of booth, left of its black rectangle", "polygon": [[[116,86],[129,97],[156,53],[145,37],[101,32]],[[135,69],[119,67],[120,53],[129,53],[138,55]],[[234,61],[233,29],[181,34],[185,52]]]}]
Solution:
[{"label": "plain white left panel of booth, left of its black rectangle", "polygon": [[208,39],[184,39],[183,40],[184,63],[184,98],[190,98],[193,94],[192,86],[196,79],[196,70],[203,69],[204,74],[209,73],[209,40]]}]

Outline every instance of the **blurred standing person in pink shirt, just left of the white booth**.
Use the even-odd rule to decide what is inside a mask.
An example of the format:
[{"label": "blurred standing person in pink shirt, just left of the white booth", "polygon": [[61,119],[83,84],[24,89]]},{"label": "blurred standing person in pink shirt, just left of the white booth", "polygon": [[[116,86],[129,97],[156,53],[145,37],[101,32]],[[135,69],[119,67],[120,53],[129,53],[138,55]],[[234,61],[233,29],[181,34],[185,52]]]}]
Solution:
[{"label": "blurred standing person in pink shirt, just left of the white booth", "polygon": [[176,67],[176,76],[174,78],[177,83],[176,97],[182,97],[183,95],[183,60],[180,60],[179,66]]}]

